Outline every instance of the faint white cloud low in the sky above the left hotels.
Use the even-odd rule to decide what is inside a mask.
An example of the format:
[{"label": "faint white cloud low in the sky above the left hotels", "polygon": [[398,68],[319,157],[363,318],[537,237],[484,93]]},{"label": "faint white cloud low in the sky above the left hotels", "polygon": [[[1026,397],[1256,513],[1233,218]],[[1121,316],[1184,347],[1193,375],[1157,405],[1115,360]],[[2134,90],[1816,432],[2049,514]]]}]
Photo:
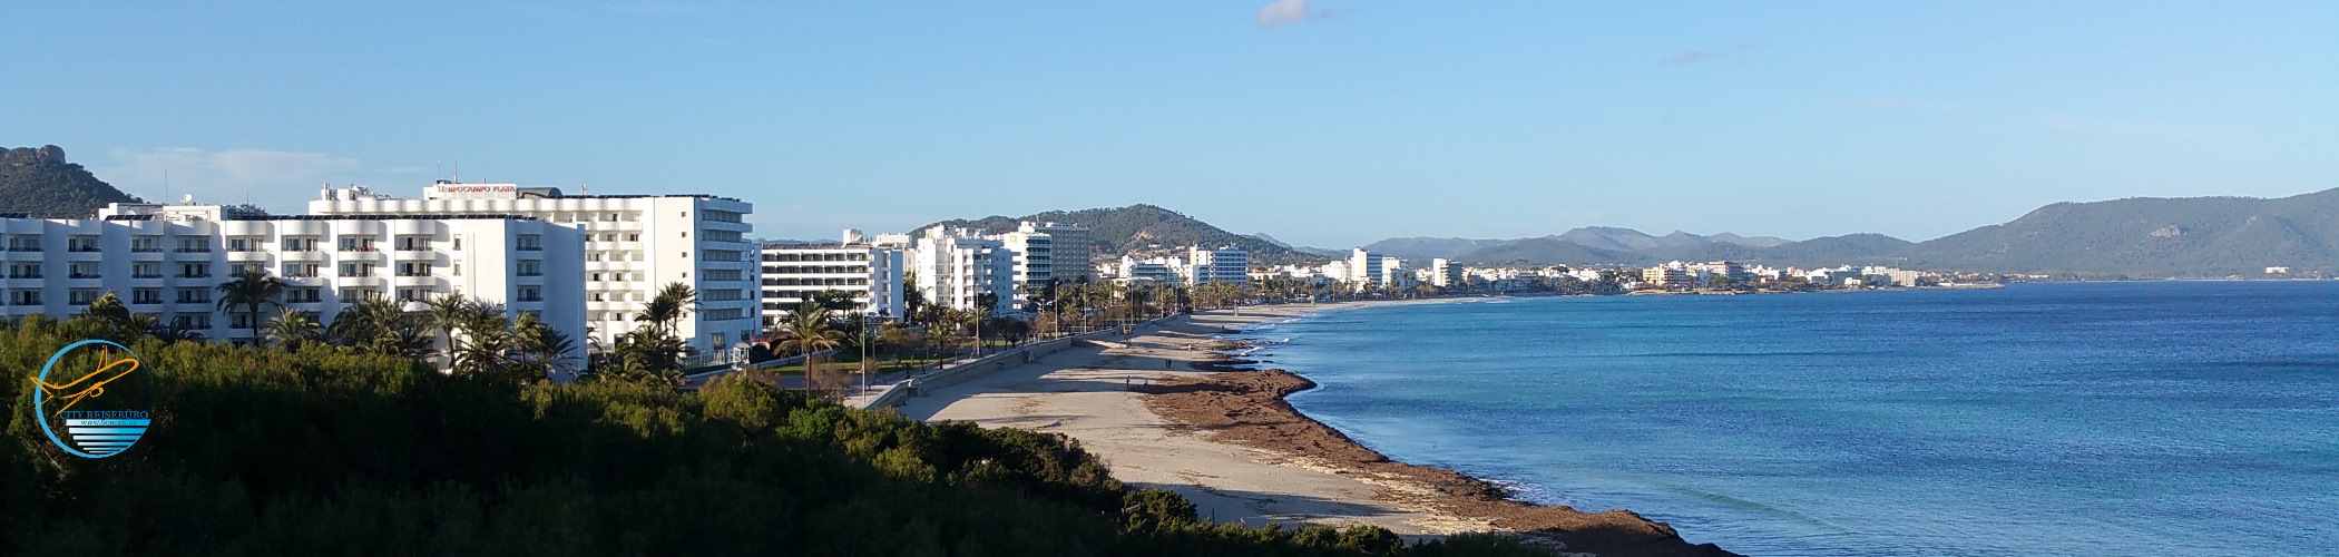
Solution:
[{"label": "faint white cloud low in the sky above the left hotels", "polygon": [[[269,213],[302,213],[325,183],[412,180],[428,169],[367,169],[351,157],[292,150],[112,150],[112,164],[89,171],[147,201],[255,204]],[[164,192],[164,171],[171,173]]]}]

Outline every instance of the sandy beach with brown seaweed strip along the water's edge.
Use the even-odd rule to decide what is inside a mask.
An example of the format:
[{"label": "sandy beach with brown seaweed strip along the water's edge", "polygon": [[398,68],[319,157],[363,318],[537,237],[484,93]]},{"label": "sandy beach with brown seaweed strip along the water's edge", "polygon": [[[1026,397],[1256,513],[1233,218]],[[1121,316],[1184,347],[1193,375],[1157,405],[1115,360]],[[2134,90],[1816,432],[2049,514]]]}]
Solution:
[{"label": "sandy beach with brown seaweed strip along the water's edge", "polygon": [[[1434,304],[1408,300],[1366,304]],[[933,388],[898,412],[929,421],[1064,433],[1132,487],[1174,489],[1216,522],[1373,524],[1408,538],[1520,531],[1598,555],[1729,555],[1689,545],[1637,515],[1576,513],[1490,498],[1467,475],[1382,459],[1305,419],[1282,396],[1308,388],[1282,372],[1223,372],[1212,335],[1347,304],[1205,311],[1076,346],[1029,365]]]}]

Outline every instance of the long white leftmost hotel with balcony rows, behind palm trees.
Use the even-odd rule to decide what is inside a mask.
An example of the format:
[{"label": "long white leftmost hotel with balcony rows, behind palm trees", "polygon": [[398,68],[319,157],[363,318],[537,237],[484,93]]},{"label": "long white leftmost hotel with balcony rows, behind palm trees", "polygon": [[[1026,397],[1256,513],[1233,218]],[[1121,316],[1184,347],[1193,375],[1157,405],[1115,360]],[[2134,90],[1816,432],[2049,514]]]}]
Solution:
[{"label": "long white leftmost hotel with balcony rows, behind palm trees", "polygon": [[[585,337],[582,234],[519,215],[225,215],[220,206],[112,204],[96,220],[0,218],[7,316],[73,316],[103,293],[206,339],[250,342],[250,314],[218,288],[246,269],[285,281],[283,307],[318,323],[367,297],[407,311],[463,293],[536,311]],[[262,323],[276,309],[262,309]],[[585,358],[582,344],[573,353]]]}]

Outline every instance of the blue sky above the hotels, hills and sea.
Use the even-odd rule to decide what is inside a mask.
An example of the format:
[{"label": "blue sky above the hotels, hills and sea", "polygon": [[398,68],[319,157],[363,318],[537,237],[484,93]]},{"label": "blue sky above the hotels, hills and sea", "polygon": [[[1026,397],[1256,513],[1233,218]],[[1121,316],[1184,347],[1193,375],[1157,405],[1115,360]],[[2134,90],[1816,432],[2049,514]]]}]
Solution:
[{"label": "blue sky above the hotels, hills and sea", "polygon": [[[147,199],[723,194],[758,236],[1155,204],[1934,239],[2339,187],[2339,2],[26,2],[0,145]],[[164,183],[168,173],[168,185]]]}]

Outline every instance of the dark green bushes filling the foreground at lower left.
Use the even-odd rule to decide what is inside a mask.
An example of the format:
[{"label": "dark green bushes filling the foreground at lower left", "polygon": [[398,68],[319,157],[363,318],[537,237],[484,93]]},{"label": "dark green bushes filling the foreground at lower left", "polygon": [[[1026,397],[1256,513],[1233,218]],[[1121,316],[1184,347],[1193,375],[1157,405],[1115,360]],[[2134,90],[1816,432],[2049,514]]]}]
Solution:
[{"label": "dark green bushes filling the foreground at lower left", "polygon": [[0,442],[9,555],[1525,555],[1490,536],[1200,522],[1064,435],[919,424],[751,379],[440,374],[363,346],[164,342],[96,316],[0,328],[28,377],[84,337],[133,346],[154,431],[51,447],[28,381]]}]

